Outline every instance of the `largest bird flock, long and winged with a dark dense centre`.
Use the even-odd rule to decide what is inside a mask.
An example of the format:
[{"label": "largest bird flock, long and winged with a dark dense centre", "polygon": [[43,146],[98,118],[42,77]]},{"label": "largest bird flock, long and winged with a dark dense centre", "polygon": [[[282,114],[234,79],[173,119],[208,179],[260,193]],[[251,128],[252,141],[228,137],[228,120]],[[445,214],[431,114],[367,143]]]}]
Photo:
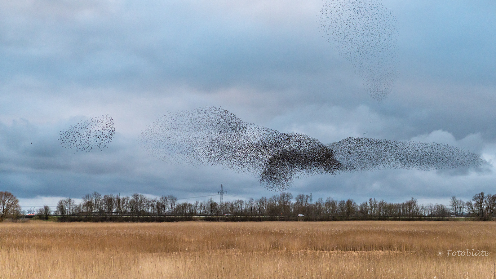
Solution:
[{"label": "largest bird flock, long and winged with a dark dense centre", "polygon": [[243,122],[216,107],[171,112],[140,135],[152,155],[180,164],[211,164],[254,174],[271,190],[319,173],[385,168],[476,167],[477,154],[441,143],[347,138],[324,145],[297,133]]}]

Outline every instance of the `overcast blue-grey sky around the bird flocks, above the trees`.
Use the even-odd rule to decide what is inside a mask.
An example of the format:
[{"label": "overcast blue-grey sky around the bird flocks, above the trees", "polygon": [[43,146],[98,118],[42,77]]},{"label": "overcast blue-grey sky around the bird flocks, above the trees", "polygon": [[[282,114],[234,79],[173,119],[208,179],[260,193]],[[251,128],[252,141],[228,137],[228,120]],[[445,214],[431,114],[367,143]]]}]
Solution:
[{"label": "overcast blue-grey sky around the bird flocks, above the trees", "polygon": [[[173,165],[139,145],[160,115],[207,105],[324,144],[414,139],[494,160],[495,1],[382,2],[398,21],[399,71],[377,102],[323,37],[322,0],[1,0],[0,191],[24,206],[93,191],[206,196],[221,182],[227,200],[278,194],[256,177]],[[102,114],[116,125],[108,148],[59,145],[60,131]],[[289,191],[447,204],[453,195],[496,193],[496,172],[320,175]]]}]

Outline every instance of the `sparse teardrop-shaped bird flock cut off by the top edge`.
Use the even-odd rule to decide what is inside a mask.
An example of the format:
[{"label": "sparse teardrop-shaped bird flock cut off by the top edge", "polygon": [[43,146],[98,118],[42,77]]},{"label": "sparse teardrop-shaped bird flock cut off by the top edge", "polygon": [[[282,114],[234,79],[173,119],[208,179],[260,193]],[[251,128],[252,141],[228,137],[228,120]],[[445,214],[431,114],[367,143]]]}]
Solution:
[{"label": "sparse teardrop-shaped bird flock cut off by the top edge", "polygon": [[326,0],[317,16],[323,35],[382,100],[397,76],[397,20],[377,0]]}]

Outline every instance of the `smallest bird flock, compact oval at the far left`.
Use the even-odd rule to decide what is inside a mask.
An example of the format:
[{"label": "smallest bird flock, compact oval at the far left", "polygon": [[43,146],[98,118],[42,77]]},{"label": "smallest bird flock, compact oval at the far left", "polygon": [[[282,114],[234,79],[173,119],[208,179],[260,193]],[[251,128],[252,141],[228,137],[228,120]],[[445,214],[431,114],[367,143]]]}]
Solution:
[{"label": "smallest bird flock, compact oval at the far left", "polygon": [[59,142],[65,148],[91,152],[106,147],[114,137],[116,127],[110,115],[79,120],[60,132]]}]

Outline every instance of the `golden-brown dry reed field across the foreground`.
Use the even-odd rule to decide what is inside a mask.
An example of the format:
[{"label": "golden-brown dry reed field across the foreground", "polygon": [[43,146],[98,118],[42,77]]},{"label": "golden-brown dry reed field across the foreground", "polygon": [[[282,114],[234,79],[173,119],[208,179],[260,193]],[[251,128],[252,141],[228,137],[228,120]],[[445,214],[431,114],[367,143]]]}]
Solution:
[{"label": "golden-brown dry reed field across the foreground", "polygon": [[[29,221],[0,237],[2,279],[492,279],[496,262],[496,222]],[[466,249],[491,254],[447,255]]]}]

